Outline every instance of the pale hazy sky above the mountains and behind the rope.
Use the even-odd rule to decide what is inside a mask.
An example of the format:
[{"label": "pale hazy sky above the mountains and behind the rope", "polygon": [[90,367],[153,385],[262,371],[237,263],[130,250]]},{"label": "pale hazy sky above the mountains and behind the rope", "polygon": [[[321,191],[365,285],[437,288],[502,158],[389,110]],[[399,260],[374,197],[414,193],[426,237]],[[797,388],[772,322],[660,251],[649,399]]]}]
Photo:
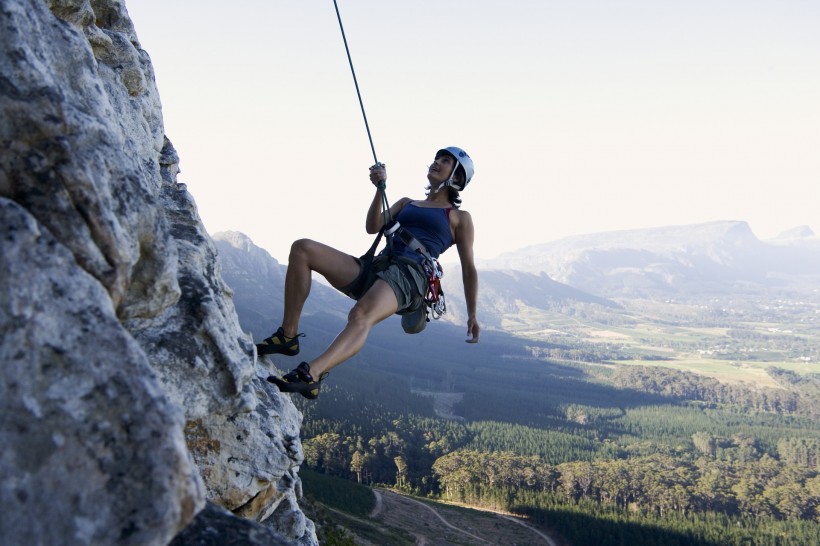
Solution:
[{"label": "pale hazy sky above the mountains and behind the rope", "polygon": [[[389,199],[463,147],[479,258],[713,220],[820,232],[817,0],[338,3]],[[126,4],[208,231],[282,262],[300,237],[363,253],[373,156],[333,1]]]}]

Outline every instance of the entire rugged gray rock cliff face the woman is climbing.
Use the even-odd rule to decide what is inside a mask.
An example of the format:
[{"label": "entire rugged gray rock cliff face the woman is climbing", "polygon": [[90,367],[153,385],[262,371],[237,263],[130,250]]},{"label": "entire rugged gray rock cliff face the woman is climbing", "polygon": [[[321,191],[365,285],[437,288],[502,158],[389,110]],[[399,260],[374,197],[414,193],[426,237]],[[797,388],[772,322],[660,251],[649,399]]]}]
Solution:
[{"label": "entire rugged gray rock cliff face the woman is climbing", "polygon": [[0,0],[0,28],[3,541],[165,545],[208,500],[316,544],[301,416],[256,367],[124,3]]}]

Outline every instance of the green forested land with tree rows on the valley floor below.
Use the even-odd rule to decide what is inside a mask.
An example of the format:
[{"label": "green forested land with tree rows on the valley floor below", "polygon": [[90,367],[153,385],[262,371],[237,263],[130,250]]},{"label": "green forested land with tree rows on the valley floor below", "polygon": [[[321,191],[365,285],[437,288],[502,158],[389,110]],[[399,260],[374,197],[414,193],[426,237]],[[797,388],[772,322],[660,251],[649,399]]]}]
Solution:
[{"label": "green forested land with tree rows on the valley floor below", "polygon": [[817,543],[820,430],[799,415],[811,408],[687,400],[652,386],[665,371],[635,372],[640,390],[583,365],[510,359],[471,375],[457,421],[437,418],[409,380],[362,364],[317,403],[297,402],[306,464],[528,514],[578,544],[674,544],[672,532],[689,537],[681,544]]}]

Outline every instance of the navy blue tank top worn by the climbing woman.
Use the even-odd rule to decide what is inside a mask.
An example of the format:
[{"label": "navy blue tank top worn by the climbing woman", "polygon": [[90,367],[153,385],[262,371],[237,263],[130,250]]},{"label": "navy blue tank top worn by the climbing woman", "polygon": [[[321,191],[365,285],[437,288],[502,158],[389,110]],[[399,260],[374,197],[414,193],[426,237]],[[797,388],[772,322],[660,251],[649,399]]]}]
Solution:
[{"label": "navy blue tank top worn by the climbing woman", "polygon": [[[401,227],[410,231],[421,242],[433,258],[438,258],[442,252],[453,244],[453,234],[450,232],[450,208],[419,207],[413,203],[405,205],[396,220]],[[385,249],[382,254],[389,252]],[[406,256],[414,261],[421,262],[423,257],[411,250],[398,237],[393,237],[393,255]]]}]

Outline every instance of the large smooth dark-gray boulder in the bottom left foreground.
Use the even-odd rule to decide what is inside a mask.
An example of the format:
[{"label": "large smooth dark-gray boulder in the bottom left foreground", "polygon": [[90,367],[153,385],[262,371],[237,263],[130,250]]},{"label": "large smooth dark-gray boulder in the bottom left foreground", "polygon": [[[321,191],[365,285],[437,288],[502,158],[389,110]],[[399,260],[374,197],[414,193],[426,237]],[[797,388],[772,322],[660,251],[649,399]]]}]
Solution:
[{"label": "large smooth dark-gray boulder in the bottom left foreground", "polygon": [[165,544],[203,504],[182,413],[110,295],[0,198],[0,536]]}]

